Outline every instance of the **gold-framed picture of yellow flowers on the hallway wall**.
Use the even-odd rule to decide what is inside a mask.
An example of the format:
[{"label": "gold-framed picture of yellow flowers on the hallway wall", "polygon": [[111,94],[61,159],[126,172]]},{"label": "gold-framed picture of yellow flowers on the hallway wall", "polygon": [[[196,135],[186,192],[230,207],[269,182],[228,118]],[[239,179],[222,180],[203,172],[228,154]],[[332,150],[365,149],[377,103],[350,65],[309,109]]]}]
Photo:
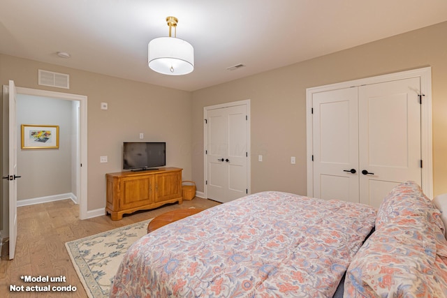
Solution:
[{"label": "gold-framed picture of yellow flowers on the hallway wall", "polygon": [[22,149],[59,149],[59,126],[22,124]]}]

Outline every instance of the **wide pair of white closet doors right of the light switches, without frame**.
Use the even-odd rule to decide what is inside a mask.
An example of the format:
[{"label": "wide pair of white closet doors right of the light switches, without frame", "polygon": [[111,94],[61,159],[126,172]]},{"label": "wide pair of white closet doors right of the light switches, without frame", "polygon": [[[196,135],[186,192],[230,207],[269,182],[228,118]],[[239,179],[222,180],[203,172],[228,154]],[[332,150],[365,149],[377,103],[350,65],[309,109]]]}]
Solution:
[{"label": "wide pair of white closet doors right of the light switches, without frame", "polygon": [[312,95],[313,196],[379,207],[421,185],[420,77]]}]

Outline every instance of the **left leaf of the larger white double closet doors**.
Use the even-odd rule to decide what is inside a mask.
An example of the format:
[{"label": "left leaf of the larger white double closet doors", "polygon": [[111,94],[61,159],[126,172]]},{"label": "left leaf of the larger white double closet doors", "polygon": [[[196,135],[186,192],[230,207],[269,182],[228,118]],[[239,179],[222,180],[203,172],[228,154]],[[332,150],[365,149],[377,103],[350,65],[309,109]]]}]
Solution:
[{"label": "left leaf of the larger white double closet doors", "polygon": [[313,95],[314,197],[359,202],[358,89]]}]

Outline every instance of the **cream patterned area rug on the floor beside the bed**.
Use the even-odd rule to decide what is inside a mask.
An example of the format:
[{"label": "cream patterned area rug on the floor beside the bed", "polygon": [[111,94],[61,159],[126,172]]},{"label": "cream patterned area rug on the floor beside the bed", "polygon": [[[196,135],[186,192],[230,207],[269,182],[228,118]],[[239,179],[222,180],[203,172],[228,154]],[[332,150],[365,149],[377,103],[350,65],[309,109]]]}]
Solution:
[{"label": "cream patterned area rug on the floor beside the bed", "polygon": [[65,244],[90,298],[109,297],[110,284],[127,249],[147,234],[147,221],[125,225]]}]

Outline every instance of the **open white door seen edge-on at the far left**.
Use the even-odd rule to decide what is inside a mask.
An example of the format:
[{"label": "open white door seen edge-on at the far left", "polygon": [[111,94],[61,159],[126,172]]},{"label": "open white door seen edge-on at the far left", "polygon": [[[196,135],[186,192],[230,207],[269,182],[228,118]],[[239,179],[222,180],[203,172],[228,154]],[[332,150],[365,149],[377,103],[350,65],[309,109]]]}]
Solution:
[{"label": "open white door seen edge-on at the far left", "polygon": [[9,259],[14,258],[17,241],[17,124],[15,121],[16,91],[9,81]]}]

